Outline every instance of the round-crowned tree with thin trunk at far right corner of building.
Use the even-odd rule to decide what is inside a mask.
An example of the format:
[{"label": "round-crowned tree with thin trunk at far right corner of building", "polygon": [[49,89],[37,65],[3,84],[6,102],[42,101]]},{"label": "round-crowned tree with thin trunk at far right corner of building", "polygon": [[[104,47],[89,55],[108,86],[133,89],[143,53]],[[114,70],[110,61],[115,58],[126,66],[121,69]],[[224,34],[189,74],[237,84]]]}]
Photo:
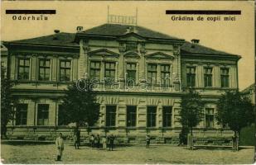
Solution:
[{"label": "round-crowned tree with thin trunk at far right corner of building", "polygon": [[247,125],[254,122],[254,105],[241,92],[225,92],[220,97],[217,105],[218,111],[216,119],[221,125],[228,125],[234,131],[234,140],[237,142],[236,148],[239,149],[240,131]]}]

